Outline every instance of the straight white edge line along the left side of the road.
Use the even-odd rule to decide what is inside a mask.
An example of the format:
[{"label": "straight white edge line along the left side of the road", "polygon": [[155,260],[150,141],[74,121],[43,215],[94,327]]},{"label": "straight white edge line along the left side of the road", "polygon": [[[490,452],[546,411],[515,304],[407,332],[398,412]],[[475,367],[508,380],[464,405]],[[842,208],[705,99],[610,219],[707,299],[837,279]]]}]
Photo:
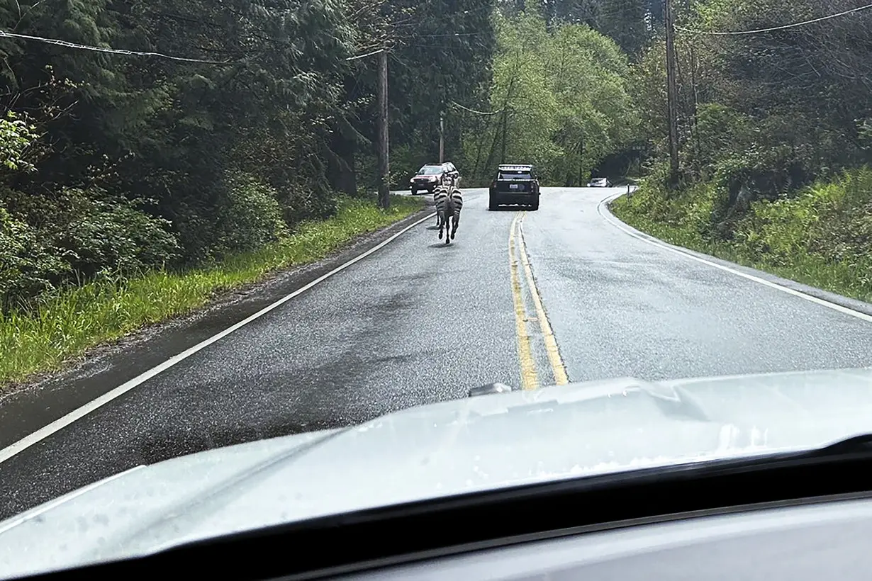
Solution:
[{"label": "straight white edge line along the left side of the road", "polygon": [[187,359],[188,357],[190,357],[191,355],[194,355],[195,353],[197,353],[198,351],[200,351],[203,348],[207,348],[209,345],[211,345],[215,341],[219,341],[220,339],[226,337],[228,334],[233,333],[235,330],[242,328],[245,325],[248,325],[251,321],[254,321],[257,318],[262,317],[264,314],[269,313],[269,311],[273,310],[274,308],[281,307],[284,303],[290,301],[291,299],[293,299],[297,295],[305,293],[311,287],[314,287],[317,284],[324,282],[324,280],[329,279],[331,276],[343,271],[345,268],[351,267],[351,265],[354,264],[355,262],[357,262],[358,260],[363,260],[364,258],[369,256],[371,253],[374,253],[374,252],[380,250],[381,248],[387,246],[393,240],[397,240],[402,234],[405,234],[406,232],[411,230],[413,227],[418,226],[419,224],[426,222],[426,220],[431,220],[433,218],[433,216],[435,216],[435,215],[436,215],[436,213],[431,213],[431,214],[425,216],[424,218],[421,218],[420,220],[415,221],[414,223],[410,224],[409,226],[405,226],[405,228],[400,230],[398,233],[395,233],[387,240],[383,240],[382,242],[378,243],[378,245],[376,245],[375,247],[371,247],[366,252],[364,252],[362,254],[358,254],[358,256],[355,256],[354,258],[352,258],[348,262],[345,262],[343,265],[340,265],[340,266],[334,268],[329,273],[322,274],[317,279],[312,280],[306,286],[296,289],[296,291],[294,291],[293,293],[284,296],[283,298],[272,303],[268,307],[263,307],[261,310],[257,311],[255,314],[250,315],[248,318],[243,319],[242,321],[239,321],[235,325],[224,329],[223,331],[221,331],[221,333],[212,335],[207,340],[201,341],[200,343],[197,343],[196,345],[194,345],[194,347],[190,347],[190,348],[185,349],[180,354],[174,355],[173,357],[170,357],[169,359],[167,359],[167,361],[164,361],[164,362],[154,366],[153,368],[148,369],[146,372],[144,372],[140,375],[137,375],[136,377],[134,377],[132,380],[130,380],[128,382],[122,383],[117,388],[113,388],[111,391],[108,391],[105,394],[100,395],[99,397],[93,399],[92,401],[85,403],[85,405],[79,407],[78,409],[73,409],[72,412],[70,412],[69,414],[58,418],[54,422],[51,422],[47,426],[44,426],[44,428],[37,429],[37,431],[33,432],[32,434],[30,434],[28,436],[24,436],[22,439],[18,440],[16,443],[12,443],[9,446],[7,446],[6,448],[0,449],[0,463],[6,462],[12,456],[15,456],[16,454],[22,452],[24,449],[30,448],[33,444],[41,442],[42,440],[44,440],[48,436],[51,436],[52,434],[54,434],[58,430],[64,429],[66,426],[70,425],[72,422],[75,422],[76,420],[84,417],[85,415],[90,414],[95,409],[98,409],[101,406],[106,405],[106,403],[108,403],[108,402],[112,402],[112,400],[116,399],[120,395],[126,394],[126,392],[128,392],[131,389],[135,388],[136,386],[140,385],[140,383],[148,381],[149,379],[151,379],[155,375],[160,374],[160,372],[162,372],[162,371],[166,371],[168,368],[173,367],[176,363]]}]

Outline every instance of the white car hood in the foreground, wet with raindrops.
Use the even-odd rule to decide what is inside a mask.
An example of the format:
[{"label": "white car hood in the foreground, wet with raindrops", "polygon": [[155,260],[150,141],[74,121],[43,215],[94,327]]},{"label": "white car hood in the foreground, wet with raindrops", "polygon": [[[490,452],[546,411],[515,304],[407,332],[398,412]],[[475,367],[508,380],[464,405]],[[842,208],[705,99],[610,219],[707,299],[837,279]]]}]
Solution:
[{"label": "white car hood in the foreground, wet with raindrops", "polygon": [[0,576],[270,524],[872,431],[872,368],[624,378],[404,409],[141,466],[0,523]]}]

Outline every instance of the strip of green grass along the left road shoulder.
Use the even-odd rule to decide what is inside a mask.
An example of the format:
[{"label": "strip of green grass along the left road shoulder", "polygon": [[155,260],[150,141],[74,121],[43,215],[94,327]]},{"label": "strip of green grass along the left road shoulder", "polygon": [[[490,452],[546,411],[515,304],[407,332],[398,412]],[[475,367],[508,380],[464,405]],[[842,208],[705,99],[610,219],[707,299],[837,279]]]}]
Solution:
[{"label": "strip of green grass along the left road shoulder", "polygon": [[276,270],[323,259],[422,205],[421,199],[393,196],[391,209],[383,212],[368,201],[342,199],[332,218],[303,224],[284,240],[235,255],[215,267],[154,271],[118,283],[92,283],[51,295],[31,312],[0,313],[0,387],[58,369],[88,348],[190,313],[217,295]]}]

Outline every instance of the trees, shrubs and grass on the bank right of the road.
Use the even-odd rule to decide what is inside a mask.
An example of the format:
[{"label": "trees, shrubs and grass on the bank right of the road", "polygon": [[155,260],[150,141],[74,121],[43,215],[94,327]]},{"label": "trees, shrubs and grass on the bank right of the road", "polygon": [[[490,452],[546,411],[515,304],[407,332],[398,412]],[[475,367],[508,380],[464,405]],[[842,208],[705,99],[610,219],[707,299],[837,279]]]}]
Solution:
[{"label": "trees, shrubs and grass on the bank right of the road", "polygon": [[660,40],[633,66],[650,176],[617,211],[678,244],[868,297],[872,184],[855,168],[872,162],[872,14],[750,35],[687,31],[777,28],[851,8],[849,0],[678,4],[681,180],[664,187]]}]

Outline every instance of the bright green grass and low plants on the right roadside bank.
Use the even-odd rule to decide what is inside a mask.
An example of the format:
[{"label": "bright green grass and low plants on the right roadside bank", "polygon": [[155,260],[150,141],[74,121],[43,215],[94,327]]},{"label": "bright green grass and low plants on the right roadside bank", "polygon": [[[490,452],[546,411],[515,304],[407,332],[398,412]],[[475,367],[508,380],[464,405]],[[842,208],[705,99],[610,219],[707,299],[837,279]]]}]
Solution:
[{"label": "bright green grass and low plants on the right roadside bank", "polygon": [[719,192],[698,184],[666,195],[644,184],[611,211],[630,226],[677,246],[753,267],[836,294],[872,302],[872,171],[775,202],[754,202],[719,233],[712,209]]}]

